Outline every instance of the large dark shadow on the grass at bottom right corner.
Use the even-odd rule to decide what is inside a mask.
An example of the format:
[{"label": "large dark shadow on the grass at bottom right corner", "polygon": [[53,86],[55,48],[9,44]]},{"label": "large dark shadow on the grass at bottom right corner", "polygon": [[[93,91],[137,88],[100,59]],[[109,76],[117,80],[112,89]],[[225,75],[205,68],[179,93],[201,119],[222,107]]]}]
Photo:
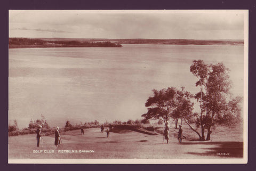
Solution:
[{"label": "large dark shadow on the grass at bottom right corner", "polygon": [[[201,145],[202,149],[208,150],[200,152],[188,152],[197,156],[219,156],[243,158],[243,142],[185,142],[181,145]],[[204,145],[214,145],[212,148],[204,148]]]}]

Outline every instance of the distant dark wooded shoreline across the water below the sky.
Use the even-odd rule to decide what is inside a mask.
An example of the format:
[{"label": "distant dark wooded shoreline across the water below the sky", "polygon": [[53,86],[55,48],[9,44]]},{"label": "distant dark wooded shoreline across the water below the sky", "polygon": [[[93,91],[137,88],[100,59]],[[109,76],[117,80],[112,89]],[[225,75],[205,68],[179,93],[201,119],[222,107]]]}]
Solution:
[{"label": "distant dark wooded shoreline across the water below the sky", "polygon": [[121,44],[244,46],[244,40],[9,38],[9,48],[122,47]]}]

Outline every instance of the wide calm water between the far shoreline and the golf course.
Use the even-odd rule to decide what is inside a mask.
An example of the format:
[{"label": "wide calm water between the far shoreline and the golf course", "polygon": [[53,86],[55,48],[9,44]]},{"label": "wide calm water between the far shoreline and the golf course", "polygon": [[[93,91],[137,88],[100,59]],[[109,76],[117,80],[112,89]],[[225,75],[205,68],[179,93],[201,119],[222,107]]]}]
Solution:
[{"label": "wide calm water between the far shoreline and the golf course", "polygon": [[196,93],[193,60],[223,62],[243,95],[243,46],[132,45],[9,50],[9,118],[20,127],[43,114],[50,126],[140,119],[151,90]]}]

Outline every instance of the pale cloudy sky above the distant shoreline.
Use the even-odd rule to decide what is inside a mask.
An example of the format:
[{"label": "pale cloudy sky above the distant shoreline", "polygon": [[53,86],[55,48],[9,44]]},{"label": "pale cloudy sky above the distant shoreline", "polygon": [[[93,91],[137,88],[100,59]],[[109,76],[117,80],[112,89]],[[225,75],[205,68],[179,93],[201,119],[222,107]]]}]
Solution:
[{"label": "pale cloudy sky above the distant shoreline", "polygon": [[9,37],[244,39],[243,10],[10,10]]}]

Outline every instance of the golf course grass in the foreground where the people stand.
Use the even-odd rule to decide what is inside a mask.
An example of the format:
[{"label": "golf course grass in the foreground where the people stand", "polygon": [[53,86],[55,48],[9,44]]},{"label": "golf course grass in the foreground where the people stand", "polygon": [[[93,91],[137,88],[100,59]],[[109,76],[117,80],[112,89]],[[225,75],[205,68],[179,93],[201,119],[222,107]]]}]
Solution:
[{"label": "golf course grass in the foreground where the people stand", "polygon": [[[100,132],[100,128],[84,129],[84,135],[81,135],[80,130],[74,130],[61,133],[62,144],[57,150],[54,145],[54,135],[43,136],[39,148],[36,146],[35,134],[11,136],[9,137],[9,159],[218,159],[243,157],[243,132],[239,128],[218,127],[213,131],[211,141],[199,142],[194,141],[197,135],[191,132],[187,126],[183,126],[183,133],[188,139],[183,140],[181,144],[178,143],[176,132],[178,129],[171,127],[170,143],[163,144],[161,134],[148,135],[130,130],[120,130],[111,132],[107,137],[106,132]],[[43,151],[35,153],[33,150]],[[58,150],[70,150],[70,153],[62,153]],[[81,151],[79,152],[79,150]],[[86,152],[86,150],[93,152]]]}]

